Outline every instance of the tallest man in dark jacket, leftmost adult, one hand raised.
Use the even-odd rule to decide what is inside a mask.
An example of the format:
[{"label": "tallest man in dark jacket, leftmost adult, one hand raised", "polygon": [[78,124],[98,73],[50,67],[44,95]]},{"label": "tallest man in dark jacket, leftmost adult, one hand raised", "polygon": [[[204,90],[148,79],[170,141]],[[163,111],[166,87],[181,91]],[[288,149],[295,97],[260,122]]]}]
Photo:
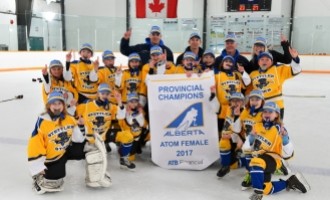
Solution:
[{"label": "tallest man in dark jacket, leftmost adult, one hand raised", "polygon": [[152,46],[158,45],[163,49],[163,52],[166,52],[167,61],[174,62],[173,52],[170,48],[164,45],[164,42],[161,40],[161,30],[159,26],[152,26],[150,30],[149,37],[146,38],[145,43],[137,44],[134,46],[129,46],[129,39],[131,37],[132,30],[129,29],[124,33],[124,37],[120,41],[120,52],[128,56],[131,53],[138,53],[141,57],[142,66],[149,62],[150,59],[150,49]]}]

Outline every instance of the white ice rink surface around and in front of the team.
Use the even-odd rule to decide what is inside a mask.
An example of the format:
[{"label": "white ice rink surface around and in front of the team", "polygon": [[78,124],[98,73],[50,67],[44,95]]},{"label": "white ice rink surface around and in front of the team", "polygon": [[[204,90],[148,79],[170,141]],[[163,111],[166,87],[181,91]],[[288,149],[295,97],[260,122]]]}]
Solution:
[{"label": "white ice rink surface around and in front of the team", "polygon": [[[22,100],[0,103],[0,199],[106,199],[106,200],[239,200],[248,199],[252,190],[241,191],[244,169],[232,170],[218,179],[216,162],[203,171],[166,170],[150,160],[147,146],[137,157],[135,172],[119,168],[116,151],[108,155],[113,185],[90,189],[85,186],[85,161],[69,161],[64,191],[37,195],[27,168],[27,141],[38,115],[43,111],[40,71],[1,72],[0,100],[23,94]],[[284,123],[295,145],[289,161],[293,171],[300,171],[311,191],[283,191],[263,199],[330,199],[330,75],[300,74],[288,80]],[[295,96],[297,95],[297,96]],[[325,96],[325,97],[324,97]],[[114,144],[111,144],[114,148]],[[273,179],[286,177],[273,176]]]}]

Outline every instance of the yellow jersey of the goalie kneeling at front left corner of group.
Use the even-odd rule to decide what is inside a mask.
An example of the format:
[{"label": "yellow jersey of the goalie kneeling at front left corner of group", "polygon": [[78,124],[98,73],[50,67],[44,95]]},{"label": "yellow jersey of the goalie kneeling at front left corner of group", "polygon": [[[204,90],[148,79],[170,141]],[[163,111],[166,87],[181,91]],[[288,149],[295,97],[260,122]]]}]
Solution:
[{"label": "yellow jersey of the goalie kneeling at front left corner of group", "polygon": [[[80,139],[75,138],[80,134]],[[65,115],[64,119],[52,121],[49,114],[38,117],[35,128],[28,141],[27,154],[32,175],[45,169],[44,163],[60,159],[67,147],[74,142],[83,142],[76,120]]]}]

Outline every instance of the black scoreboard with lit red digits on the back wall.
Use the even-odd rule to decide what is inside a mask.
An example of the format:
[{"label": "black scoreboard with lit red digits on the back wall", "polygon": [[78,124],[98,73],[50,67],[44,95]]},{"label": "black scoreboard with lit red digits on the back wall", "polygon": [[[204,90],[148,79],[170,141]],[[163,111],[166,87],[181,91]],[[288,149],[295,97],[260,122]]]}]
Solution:
[{"label": "black scoreboard with lit red digits on the back wall", "polygon": [[272,0],[227,0],[227,12],[271,11]]}]

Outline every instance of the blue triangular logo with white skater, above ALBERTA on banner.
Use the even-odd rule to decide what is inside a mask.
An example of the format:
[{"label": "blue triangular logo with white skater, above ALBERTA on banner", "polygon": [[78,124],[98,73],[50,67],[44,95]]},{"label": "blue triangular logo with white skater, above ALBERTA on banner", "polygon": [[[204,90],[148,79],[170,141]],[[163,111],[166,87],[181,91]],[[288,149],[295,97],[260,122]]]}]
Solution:
[{"label": "blue triangular logo with white skater, above ALBERTA on banner", "polygon": [[175,128],[175,131],[186,131],[189,127],[203,125],[203,104],[200,102],[186,108],[166,128]]}]

